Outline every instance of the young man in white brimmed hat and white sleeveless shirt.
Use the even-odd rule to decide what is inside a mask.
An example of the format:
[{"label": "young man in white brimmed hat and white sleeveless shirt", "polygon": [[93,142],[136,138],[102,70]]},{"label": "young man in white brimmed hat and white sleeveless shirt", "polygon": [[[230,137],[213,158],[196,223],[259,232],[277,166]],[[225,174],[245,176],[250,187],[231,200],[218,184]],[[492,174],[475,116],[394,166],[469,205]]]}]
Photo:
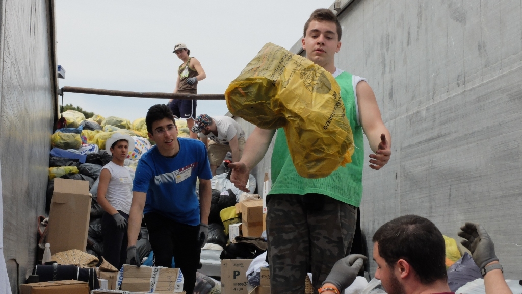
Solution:
[{"label": "young man in white brimmed hat and white sleeveless shirt", "polygon": [[123,133],[114,134],[105,142],[112,161],[103,166],[98,184],[98,203],[105,211],[101,218],[102,256],[116,268],[127,259],[127,221],[131,210],[132,177],[123,166],[134,139]]}]

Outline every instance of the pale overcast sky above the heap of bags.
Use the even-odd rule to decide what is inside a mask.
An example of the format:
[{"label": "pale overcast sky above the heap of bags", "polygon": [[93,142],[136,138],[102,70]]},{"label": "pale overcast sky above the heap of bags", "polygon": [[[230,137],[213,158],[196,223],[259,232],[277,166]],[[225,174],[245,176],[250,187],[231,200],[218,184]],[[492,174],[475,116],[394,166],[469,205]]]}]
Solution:
[{"label": "pale overcast sky above the heap of bags", "polygon": [[[333,0],[294,1],[72,1],[56,0],[60,87],[171,93],[182,63],[172,53],[186,43],[207,73],[199,94],[222,94],[265,43],[290,49],[316,8]],[[72,103],[104,117],[145,117],[166,99],[65,93]],[[227,112],[224,100],[199,100],[197,114]]]}]

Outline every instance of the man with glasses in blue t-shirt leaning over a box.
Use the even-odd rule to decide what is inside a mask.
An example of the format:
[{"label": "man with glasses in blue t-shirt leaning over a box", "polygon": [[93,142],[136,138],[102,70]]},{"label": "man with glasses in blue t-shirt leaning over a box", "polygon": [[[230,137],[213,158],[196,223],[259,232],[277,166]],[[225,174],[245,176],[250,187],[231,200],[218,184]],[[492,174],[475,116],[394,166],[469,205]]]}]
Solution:
[{"label": "man with glasses in blue t-shirt leaning over a box", "polygon": [[127,264],[140,266],[136,241],[143,216],[155,265],[171,267],[174,256],[185,279],[183,290],[192,293],[201,247],[208,234],[212,174],[207,149],[203,142],[177,138],[174,116],[167,105],[150,107],[145,122],[149,138],[156,145],[141,156],[136,168],[128,220]]}]

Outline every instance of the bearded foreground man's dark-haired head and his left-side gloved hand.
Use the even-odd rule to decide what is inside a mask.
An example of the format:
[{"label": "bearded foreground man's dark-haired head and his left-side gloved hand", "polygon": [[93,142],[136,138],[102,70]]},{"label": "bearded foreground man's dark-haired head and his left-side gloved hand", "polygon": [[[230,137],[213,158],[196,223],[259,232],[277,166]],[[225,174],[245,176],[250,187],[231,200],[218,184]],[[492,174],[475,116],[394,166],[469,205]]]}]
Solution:
[{"label": "bearded foreground man's dark-haired head and his left-side gloved hand", "polygon": [[[444,238],[433,222],[414,215],[398,217],[383,224],[372,240],[375,278],[386,293],[450,293]],[[363,259],[354,255],[340,259],[319,293],[342,293],[355,280]]]}]

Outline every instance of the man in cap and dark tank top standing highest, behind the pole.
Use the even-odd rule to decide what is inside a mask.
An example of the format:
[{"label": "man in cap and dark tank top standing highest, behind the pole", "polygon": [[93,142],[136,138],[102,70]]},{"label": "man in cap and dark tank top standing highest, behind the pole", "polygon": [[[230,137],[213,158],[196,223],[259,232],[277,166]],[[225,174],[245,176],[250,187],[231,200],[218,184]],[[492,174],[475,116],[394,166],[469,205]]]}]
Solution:
[{"label": "man in cap and dark tank top standing highest, behind the pole", "polygon": [[[197,94],[198,81],[204,80],[207,77],[203,67],[201,67],[201,63],[199,63],[197,59],[189,57],[191,50],[187,49],[184,43],[176,44],[173,52],[183,61],[177,69],[174,93]],[[168,105],[176,118],[187,120],[187,127],[189,129],[194,126],[197,106],[196,99],[170,99]],[[197,139],[197,134],[191,133],[190,137]]]}]

